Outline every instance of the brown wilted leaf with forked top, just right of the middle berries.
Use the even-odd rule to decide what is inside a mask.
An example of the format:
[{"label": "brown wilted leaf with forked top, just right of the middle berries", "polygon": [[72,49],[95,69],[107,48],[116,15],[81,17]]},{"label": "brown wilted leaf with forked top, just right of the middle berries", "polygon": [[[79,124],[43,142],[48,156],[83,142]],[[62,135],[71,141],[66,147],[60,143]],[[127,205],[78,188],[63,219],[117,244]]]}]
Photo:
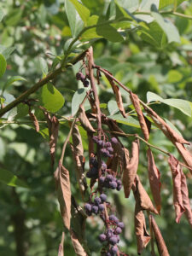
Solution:
[{"label": "brown wilted leaf with forked top, just right of the middle berries", "polygon": [[136,139],[135,141],[132,142],[131,158],[129,158],[129,154],[127,151],[128,150],[125,150],[125,164],[123,173],[125,198],[129,197],[132,184],[134,183],[137,174],[139,161],[139,140]]}]

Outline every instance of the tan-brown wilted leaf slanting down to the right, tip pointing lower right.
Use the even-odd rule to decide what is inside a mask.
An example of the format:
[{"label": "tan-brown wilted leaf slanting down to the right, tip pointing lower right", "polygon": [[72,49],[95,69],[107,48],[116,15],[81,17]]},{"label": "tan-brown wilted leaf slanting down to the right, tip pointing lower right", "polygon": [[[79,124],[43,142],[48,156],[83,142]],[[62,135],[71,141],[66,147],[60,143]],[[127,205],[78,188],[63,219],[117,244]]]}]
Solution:
[{"label": "tan-brown wilted leaf slanting down to the right, tip pointing lower right", "polygon": [[152,201],[150,200],[150,197],[148,196],[148,193],[143,188],[143,184],[140,182],[138,176],[136,176],[135,178],[135,183],[133,184],[132,189],[136,200],[139,202],[139,205],[140,207],[142,207],[143,210],[158,214],[157,210],[154,208]]}]

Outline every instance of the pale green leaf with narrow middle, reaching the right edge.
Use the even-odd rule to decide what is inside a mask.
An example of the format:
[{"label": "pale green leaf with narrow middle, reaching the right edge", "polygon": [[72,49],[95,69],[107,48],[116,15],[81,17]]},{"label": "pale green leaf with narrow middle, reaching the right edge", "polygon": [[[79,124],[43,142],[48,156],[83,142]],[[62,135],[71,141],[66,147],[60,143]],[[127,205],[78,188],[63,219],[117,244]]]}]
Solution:
[{"label": "pale green leaf with narrow middle, reaching the right edge", "polygon": [[156,95],[154,92],[148,91],[147,93],[148,102],[159,101],[173,108],[177,108],[182,111],[184,114],[191,116],[191,107],[188,101],[181,99],[163,99],[160,96]]}]

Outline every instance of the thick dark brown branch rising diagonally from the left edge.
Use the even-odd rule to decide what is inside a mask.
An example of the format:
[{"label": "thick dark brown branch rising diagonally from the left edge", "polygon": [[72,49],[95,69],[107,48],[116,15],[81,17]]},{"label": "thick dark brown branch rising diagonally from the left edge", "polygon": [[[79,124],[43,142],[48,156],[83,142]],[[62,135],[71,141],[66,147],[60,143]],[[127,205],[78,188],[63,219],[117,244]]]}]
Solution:
[{"label": "thick dark brown branch rising diagonally from the left edge", "polygon": [[5,108],[0,109],[0,118],[3,116],[4,113],[7,113],[12,108],[15,108],[20,102],[23,102],[28,96],[30,96],[33,92],[37,91],[39,88],[41,88],[44,84],[47,84],[50,80],[55,79],[56,76],[58,76],[60,73],[65,71],[65,68],[71,67],[71,65],[74,65],[78,61],[82,60],[84,58],[84,55],[86,54],[87,50],[82,52],[77,57],[73,58],[72,61],[67,63],[64,67],[59,67],[55,69],[54,72],[49,73],[44,79],[40,79],[38,83],[34,84],[32,88],[26,90],[23,94],[21,94],[19,97],[15,99],[15,101],[10,102]]}]

